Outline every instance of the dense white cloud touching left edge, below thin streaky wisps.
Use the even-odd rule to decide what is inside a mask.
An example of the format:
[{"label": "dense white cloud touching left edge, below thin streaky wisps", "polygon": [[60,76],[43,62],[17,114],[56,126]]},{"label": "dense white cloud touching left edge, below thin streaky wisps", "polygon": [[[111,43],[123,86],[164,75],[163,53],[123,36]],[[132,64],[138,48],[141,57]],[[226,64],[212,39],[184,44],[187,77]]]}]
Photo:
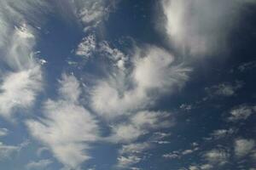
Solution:
[{"label": "dense white cloud touching left edge, below thin streaky wisps", "polygon": [[0,84],[0,115],[10,118],[15,109],[27,109],[33,105],[42,90],[42,73],[38,66],[19,72],[10,72]]}]

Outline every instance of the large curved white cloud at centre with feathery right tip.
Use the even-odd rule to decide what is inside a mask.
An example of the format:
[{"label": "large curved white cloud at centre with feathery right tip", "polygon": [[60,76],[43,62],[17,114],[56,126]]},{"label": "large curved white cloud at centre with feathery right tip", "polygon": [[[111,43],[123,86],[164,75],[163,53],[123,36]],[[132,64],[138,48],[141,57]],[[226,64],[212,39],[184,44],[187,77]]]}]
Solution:
[{"label": "large curved white cloud at centre with feathery right tip", "polygon": [[90,106],[96,113],[113,119],[153,105],[164,92],[183,87],[189,78],[188,68],[174,65],[174,57],[164,49],[152,46],[142,50],[134,56],[131,74],[113,72],[115,76],[91,89]]}]

